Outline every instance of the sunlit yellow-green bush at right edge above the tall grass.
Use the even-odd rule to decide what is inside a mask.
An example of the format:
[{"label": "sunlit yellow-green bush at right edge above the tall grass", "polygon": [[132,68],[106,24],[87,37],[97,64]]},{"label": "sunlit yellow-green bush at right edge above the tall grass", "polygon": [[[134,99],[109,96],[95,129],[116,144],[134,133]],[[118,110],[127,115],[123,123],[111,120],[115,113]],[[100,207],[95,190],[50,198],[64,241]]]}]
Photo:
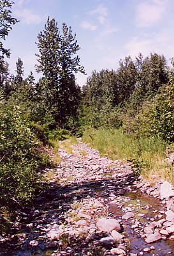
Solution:
[{"label": "sunlit yellow-green bush at right edge above the tall grass", "polygon": [[163,140],[174,141],[174,86],[163,86],[153,102],[140,114],[141,131],[159,134]]}]

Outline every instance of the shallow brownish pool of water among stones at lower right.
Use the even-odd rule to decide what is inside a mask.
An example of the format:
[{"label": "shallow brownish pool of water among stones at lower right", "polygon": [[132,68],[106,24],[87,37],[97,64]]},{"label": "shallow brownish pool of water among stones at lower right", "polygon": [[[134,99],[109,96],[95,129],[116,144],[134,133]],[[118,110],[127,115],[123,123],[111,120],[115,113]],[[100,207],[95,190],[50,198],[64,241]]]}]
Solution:
[{"label": "shallow brownish pool of water among stones at lower right", "polygon": [[[150,220],[147,218],[154,218],[155,220],[159,220],[157,218],[157,211],[161,211],[161,204],[159,200],[156,198],[150,198],[147,196],[143,196],[140,193],[126,193],[124,196],[120,198],[120,202],[124,204],[124,207],[128,207],[128,205],[132,205],[131,208],[135,214],[134,219],[140,221],[143,224],[143,227],[146,223],[150,223]],[[145,209],[145,207],[149,206],[149,209]],[[154,212],[155,211],[155,212]],[[122,216],[122,211],[119,206],[110,205],[110,212],[113,213],[115,218]],[[138,214],[145,214],[145,216],[138,216]],[[133,222],[131,220],[123,221],[124,231],[127,234],[127,238],[131,241],[130,245],[130,253],[134,253],[139,255],[146,256],[166,256],[166,255],[174,255],[174,241],[161,239],[156,243],[145,243],[145,240],[141,238],[140,234],[136,234],[131,228]],[[143,252],[143,248],[150,248],[150,246],[154,246],[155,250],[151,250],[150,252]],[[143,254],[142,254],[143,253]]]}]

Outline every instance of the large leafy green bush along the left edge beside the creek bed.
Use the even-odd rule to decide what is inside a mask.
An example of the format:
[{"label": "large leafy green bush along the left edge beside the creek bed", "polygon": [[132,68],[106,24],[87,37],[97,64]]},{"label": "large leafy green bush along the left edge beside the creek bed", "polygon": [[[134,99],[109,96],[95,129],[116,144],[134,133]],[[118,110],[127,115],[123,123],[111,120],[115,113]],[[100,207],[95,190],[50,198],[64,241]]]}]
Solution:
[{"label": "large leafy green bush along the left edge beside the creek bed", "polygon": [[40,143],[29,128],[20,106],[4,104],[0,111],[0,204],[26,204],[41,189],[36,172],[48,159],[40,153]]}]

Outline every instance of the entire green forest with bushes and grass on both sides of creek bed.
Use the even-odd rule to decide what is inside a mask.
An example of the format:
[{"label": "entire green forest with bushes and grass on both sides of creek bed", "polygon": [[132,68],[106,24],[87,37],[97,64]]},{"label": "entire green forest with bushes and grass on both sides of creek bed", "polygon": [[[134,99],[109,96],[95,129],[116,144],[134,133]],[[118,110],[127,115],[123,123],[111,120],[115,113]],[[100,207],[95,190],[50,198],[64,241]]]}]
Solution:
[{"label": "entire green forest with bushes and grass on both sides of creek bed", "polygon": [[[4,47],[18,22],[10,0],[0,1],[0,209],[32,204],[45,189],[42,170],[59,160],[57,141],[76,136],[112,159],[133,164],[134,173],[173,182],[165,161],[174,142],[174,61],[156,52],[126,56],[117,70],[94,70],[81,88],[76,73],[85,74],[73,29],[48,17],[38,31],[36,81],[24,79],[23,61],[10,74],[10,50]],[[171,56],[172,57],[172,56]],[[55,153],[50,161],[49,152]],[[58,161],[57,160],[57,161]],[[0,233],[4,232],[4,226]]]}]

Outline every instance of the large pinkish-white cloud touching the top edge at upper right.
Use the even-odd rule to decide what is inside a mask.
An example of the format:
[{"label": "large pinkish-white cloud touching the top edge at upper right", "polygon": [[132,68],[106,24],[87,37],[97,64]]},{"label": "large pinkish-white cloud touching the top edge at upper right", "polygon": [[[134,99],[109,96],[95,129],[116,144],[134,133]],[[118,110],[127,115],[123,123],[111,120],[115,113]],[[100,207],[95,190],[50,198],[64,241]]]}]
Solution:
[{"label": "large pinkish-white cloud touching the top edge at upper right", "polygon": [[163,19],[168,0],[150,0],[136,6],[136,26],[149,27]]}]

